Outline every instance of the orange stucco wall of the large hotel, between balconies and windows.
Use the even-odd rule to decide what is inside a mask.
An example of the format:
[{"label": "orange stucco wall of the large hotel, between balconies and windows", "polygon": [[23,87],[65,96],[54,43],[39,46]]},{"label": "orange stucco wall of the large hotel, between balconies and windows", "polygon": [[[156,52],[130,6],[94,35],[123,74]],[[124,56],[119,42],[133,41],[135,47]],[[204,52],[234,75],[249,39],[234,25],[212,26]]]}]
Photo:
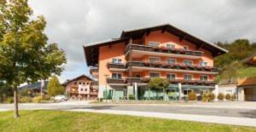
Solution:
[{"label": "orange stucco wall of the large hotel, between balconies and windows", "polygon": [[[207,61],[208,66],[213,66],[213,58],[212,58],[212,53],[205,49],[196,49],[195,44],[189,43],[187,41],[179,41],[179,38],[168,33],[168,32],[150,32],[148,36],[144,36],[141,39],[133,41],[133,43],[137,44],[148,44],[148,42],[153,41],[153,42],[160,42],[160,46],[166,46],[166,43],[172,43],[176,45],[177,49],[181,49],[183,45],[187,45],[189,47],[189,50],[197,50],[197,51],[202,51],[203,56],[201,59],[193,59],[193,65],[199,65],[201,60]],[[99,83],[102,85],[106,84],[106,77],[104,75],[108,75],[108,77],[111,77],[112,72],[109,71],[108,69],[108,63],[112,61],[113,58],[118,58],[122,59],[123,62],[125,63],[125,43],[114,43],[111,46],[102,46],[99,49]],[[142,58],[132,58],[131,60],[148,60],[149,57],[154,57],[154,56],[148,56],[144,55]],[[160,57],[160,60],[162,62],[166,62],[166,60],[169,57]],[[177,63],[183,63],[183,60],[188,60],[188,59],[182,59],[182,58],[173,58],[177,60]],[[192,59],[189,59],[192,60]],[[127,77],[127,75],[123,72],[123,77]],[[160,72],[161,77],[166,77],[167,73],[172,73],[172,72]],[[184,73],[180,72],[174,72],[177,74],[177,78],[183,78]],[[139,74],[141,77],[149,77],[149,72],[148,71],[143,71],[143,72],[133,72],[132,76],[136,77],[136,75]],[[189,73],[190,74],[190,73]],[[193,74],[191,73],[194,77],[194,79],[199,79],[200,75],[203,74]],[[208,75],[209,80],[213,79],[213,75]]]}]

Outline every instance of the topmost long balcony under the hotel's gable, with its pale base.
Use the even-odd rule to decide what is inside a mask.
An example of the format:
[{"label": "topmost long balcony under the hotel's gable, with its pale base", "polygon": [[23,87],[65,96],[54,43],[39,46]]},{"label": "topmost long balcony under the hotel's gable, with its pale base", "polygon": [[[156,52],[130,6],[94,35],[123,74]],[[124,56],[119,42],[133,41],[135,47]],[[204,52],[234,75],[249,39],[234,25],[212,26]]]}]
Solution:
[{"label": "topmost long balcony under the hotel's gable, with its pale base", "polygon": [[180,58],[191,58],[199,59],[201,58],[203,52],[201,51],[192,51],[186,49],[168,49],[166,47],[153,48],[147,45],[139,44],[129,44],[125,48],[125,55],[131,55],[131,51],[137,51],[136,55],[146,54],[148,55],[157,55],[157,56],[169,56],[169,57],[180,57]]}]

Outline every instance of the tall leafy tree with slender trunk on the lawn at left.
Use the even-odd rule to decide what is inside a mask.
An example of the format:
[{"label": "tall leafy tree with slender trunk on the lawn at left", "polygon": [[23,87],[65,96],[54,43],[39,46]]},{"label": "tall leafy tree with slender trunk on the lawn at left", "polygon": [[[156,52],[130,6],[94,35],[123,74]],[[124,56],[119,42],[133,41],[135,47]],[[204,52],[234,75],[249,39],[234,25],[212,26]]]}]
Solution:
[{"label": "tall leafy tree with slender trunk on the lawn at left", "polygon": [[27,0],[0,0],[0,79],[14,90],[15,118],[20,83],[59,75],[66,63],[64,51],[47,43],[44,17],[31,16]]}]

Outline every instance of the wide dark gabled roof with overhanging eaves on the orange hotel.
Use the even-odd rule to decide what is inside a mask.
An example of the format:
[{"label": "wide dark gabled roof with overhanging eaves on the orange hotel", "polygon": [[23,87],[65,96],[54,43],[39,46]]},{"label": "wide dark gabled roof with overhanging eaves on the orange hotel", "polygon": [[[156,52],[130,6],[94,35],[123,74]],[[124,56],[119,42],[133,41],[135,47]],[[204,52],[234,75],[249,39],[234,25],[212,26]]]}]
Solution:
[{"label": "wide dark gabled roof with overhanging eaves on the orange hotel", "polygon": [[184,32],[183,30],[175,26],[172,26],[170,24],[162,24],[157,26],[147,26],[147,27],[124,30],[121,33],[121,36],[119,38],[109,39],[109,40],[97,42],[97,43],[84,44],[84,55],[85,55],[87,65],[96,66],[97,60],[95,60],[95,58],[98,58],[98,52],[99,52],[98,49],[100,46],[113,44],[113,43],[127,42],[129,41],[130,38],[143,37],[145,34],[148,35],[150,32],[159,31],[159,30],[162,32],[170,32],[173,35],[179,37],[181,41],[186,40],[190,43],[195,43],[197,48],[207,49],[208,51],[212,52],[213,57],[218,55],[223,55],[228,52],[228,50],[223,49],[214,43],[210,43],[204,39],[195,37],[194,35],[189,34],[188,32]]}]

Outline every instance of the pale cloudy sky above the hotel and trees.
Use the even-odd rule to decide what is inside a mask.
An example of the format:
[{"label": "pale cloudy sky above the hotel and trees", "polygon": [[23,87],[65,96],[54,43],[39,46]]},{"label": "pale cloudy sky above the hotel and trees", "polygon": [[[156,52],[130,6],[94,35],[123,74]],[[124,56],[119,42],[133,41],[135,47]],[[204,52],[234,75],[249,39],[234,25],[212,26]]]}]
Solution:
[{"label": "pale cloudy sky above the hotel and trees", "polygon": [[116,38],[125,29],[170,23],[209,42],[256,42],[255,0],[29,0],[44,15],[49,43],[66,51],[60,81],[90,75],[83,45]]}]

